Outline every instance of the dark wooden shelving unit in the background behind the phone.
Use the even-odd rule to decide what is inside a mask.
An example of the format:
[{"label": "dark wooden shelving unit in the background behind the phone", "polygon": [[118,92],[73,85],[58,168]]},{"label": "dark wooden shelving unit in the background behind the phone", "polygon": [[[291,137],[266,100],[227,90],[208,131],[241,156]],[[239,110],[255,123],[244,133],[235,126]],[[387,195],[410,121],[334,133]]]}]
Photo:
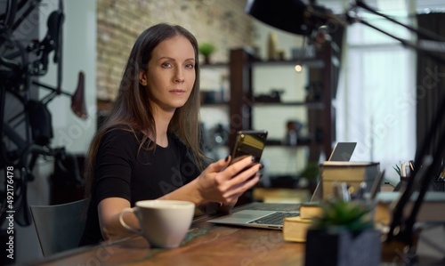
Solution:
[{"label": "dark wooden shelving unit in the background behind the phone", "polygon": [[[296,60],[263,61],[255,58],[247,49],[234,49],[230,53],[230,84],[231,84],[231,132],[254,129],[254,107],[274,106],[277,108],[305,108],[308,112],[308,127],[312,135],[311,140],[305,140],[299,145],[310,147],[310,161],[317,162],[321,152],[329,155],[332,144],[336,140],[336,109],[332,100],[336,94],[337,75],[339,69],[338,50],[335,44],[320,47],[313,60],[302,60],[298,63],[309,68],[309,85],[322,86],[320,100],[317,101],[290,101],[270,102],[255,101],[252,86],[253,69],[257,66],[283,66],[295,65]],[[233,147],[234,138],[229,140]],[[274,143],[274,145],[281,145]]]}]

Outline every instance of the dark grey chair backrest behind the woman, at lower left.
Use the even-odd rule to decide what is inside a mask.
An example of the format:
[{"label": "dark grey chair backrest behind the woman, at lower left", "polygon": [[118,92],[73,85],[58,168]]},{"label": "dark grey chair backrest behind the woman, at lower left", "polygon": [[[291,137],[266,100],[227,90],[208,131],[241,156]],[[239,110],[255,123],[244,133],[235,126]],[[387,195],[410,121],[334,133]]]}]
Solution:
[{"label": "dark grey chair backrest behind the woman, at lower left", "polygon": [[54,206],[30,206],[44,256],[77,247],[85,228],[88,199]]}]

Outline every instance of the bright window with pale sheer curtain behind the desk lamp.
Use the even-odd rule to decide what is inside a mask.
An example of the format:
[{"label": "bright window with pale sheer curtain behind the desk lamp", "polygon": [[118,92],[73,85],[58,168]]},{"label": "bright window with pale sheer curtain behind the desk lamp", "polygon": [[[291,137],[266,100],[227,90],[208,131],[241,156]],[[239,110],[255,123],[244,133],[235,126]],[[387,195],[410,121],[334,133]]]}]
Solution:
[{"label": "bright window with pale sheer curtain behind the desk lamp", "polygon": [[[407,16],[399,15],[402,23]],[[405,39],[409,32],[381,18],[364,18]],[[380,162],[386,178],[399,181],[392,166],[416,153],[416,57],[410,49],[362,24],[347,28],[336,95],[336,141],[357,141],[352,160]]]}]

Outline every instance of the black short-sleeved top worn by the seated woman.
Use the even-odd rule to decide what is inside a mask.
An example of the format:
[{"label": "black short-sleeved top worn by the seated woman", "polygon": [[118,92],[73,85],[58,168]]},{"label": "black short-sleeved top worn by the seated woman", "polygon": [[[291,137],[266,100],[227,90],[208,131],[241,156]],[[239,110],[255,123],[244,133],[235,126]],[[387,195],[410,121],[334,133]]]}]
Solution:
[{"label": "black short-sleeved top worn by the seated woman", "polygon": [[198,167],[185,145],[168,135],[166,148],[140,149],[141,136],[124,130],[105,133],[97,154],[92,198],[79,246],[103,240],[97,206],[102,199],[123,197],[131,206],[162,197],[198,177]]}]

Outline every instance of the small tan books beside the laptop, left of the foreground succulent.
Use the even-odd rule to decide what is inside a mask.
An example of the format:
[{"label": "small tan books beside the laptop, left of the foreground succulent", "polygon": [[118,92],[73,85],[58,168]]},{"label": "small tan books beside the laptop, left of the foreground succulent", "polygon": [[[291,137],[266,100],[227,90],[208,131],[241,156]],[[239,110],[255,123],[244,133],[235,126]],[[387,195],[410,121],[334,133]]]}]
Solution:
[{"label": "small tan books beside the laptop, left of the foreground succulent", "polygon": [[312,218],[319,216],[322,208],[319,203],[303,203],[300,215],[287,217],[283,222],[283,238],[285,241],[306,242],[307,230],[312,225]]}]

